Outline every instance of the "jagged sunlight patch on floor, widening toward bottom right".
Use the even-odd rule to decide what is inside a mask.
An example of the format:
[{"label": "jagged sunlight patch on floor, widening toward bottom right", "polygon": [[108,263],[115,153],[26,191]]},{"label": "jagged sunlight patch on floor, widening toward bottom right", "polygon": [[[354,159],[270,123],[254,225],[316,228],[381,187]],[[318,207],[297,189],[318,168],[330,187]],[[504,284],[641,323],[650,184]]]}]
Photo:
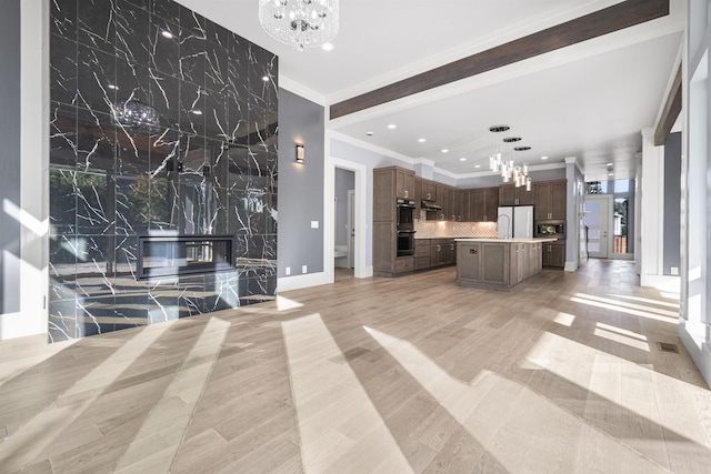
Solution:
[{"label": "jagged sunlight patch on floor, widening toward bottom right", "polygon": [[365,330],[481,444],[481,455],[488,453],[509,472],[585,472],[591,460],[600,460],[599,453],[609,460],[607,466],[597,466],[602,472],[620,466],[667,472],[665,465],[523,384],[489,371],[468,384],[449,375],[408,341]]}]

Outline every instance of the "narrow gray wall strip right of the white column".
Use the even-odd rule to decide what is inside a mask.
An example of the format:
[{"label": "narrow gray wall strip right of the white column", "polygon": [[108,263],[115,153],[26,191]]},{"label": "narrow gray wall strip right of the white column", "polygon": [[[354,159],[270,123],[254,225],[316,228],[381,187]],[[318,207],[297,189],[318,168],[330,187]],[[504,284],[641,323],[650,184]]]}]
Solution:
[{"label": "narrow gray wall strip right of the white column", "polygon": [[681,265],[681,133],[671,133],[664,143],[664,274]]}]

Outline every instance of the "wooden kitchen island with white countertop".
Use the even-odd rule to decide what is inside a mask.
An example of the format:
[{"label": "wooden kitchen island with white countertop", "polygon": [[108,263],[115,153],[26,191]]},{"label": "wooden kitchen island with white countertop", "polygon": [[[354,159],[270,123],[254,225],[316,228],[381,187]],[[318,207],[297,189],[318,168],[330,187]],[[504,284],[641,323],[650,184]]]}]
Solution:
[{"label": "wooden kitchen island with white countertop", "polygon": [[541,272],[543,243],[557,239],[457,239],[457,283],[511,290]]}]

